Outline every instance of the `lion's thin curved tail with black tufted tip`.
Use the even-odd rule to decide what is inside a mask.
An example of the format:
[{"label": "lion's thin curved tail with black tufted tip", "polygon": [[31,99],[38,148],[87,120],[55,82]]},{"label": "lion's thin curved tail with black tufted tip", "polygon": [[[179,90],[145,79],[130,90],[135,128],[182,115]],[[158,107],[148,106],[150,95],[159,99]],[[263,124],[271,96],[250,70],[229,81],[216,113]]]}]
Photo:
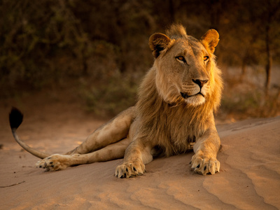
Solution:
[{"label": "lion's thin curved tail with black tufted tip", "polygon": [[24,148],[27,152],[31,153],[32,155],[34,155],[38,158],[43,159],[43,158],[47,158],[48,156],[50,156],[47,153],[36,151],[34,148],[31,148],[30,146],[25,144],[25,142],[20,140],[20,137],[18,137],[18,134],[16,131],[17,131],[18,127],[20,126],[20,124],[22,124],[22,119],[23,119],[23,114],[18,109],[13,107],[10,111],[9,120],[10,120],[10,129],[12,130],[15,141],[17,141],[18,144],[20,144],[20,146],[22,146],[22,148]]}]

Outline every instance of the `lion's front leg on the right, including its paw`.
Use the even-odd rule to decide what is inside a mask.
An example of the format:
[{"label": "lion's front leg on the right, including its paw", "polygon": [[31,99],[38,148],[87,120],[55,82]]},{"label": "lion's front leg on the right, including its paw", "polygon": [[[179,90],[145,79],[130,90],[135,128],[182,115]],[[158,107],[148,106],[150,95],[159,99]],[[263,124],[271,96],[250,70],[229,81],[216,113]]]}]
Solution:
[{"label": "lion's front leg on the right, including its paw", "polygon": [[195,155],[192,158],[192,168],[198,174],[215,174],[220,170],[220,162],[217,160],[218,150],[221,146],[220,137],[215,129],[209,129],[200,139],[197,139],[193,147]]}]

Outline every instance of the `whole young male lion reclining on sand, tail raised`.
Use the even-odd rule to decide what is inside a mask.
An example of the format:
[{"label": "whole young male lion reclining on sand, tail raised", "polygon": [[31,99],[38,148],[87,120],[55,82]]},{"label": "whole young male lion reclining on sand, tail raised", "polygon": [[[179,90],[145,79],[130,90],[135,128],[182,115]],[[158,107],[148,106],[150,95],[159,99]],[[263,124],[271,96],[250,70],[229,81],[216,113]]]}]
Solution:
[{"label": "whole young male lion reclining on sand, tail raised", "polygon": [[219,172],[216,157],[221,141],[214,123],[223,89],[214,55],[219,34],[210,29],[197,40],[182,25],[172,25],[166,34],[149,38],[154,64],[141,82],[137,104],[99,127],[73,151],[49,155],[27,146],[16,132],[22,113],[12,109],[13,136],[22,148],[43,159],[37,167],[57,171],[124,158],[115,176],[130,178],[144,174],[145,165],[155,157],[193,150],[194,172]]}]

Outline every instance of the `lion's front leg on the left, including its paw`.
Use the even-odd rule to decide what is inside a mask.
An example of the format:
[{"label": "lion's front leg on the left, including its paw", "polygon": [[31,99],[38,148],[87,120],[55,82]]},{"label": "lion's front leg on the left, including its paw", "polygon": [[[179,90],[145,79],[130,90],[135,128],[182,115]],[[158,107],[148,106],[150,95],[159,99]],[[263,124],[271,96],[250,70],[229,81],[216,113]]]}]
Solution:
[{"label": "lion's front leg on the left, including its paw", "polygon": [[133,141],[125,151],[123,164],[116,168],[118,178],[130,178],[142,175],[145,165],[153,160],[151,146],[144,146],[141,141]]}]

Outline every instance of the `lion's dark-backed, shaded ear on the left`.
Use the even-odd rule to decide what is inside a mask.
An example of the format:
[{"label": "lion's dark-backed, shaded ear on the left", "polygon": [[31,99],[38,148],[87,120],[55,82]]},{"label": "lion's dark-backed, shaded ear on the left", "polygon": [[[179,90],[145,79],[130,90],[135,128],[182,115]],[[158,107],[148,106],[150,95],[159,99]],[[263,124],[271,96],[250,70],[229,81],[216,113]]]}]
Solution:
[{"label": "lion's dark-backed, shaded ear on the left", "polygon": [[153,51],[153,56],[157,58],[160,51],[164,50],[171,39],[165,34],[155,33],[149,38],[149,46]]}]

